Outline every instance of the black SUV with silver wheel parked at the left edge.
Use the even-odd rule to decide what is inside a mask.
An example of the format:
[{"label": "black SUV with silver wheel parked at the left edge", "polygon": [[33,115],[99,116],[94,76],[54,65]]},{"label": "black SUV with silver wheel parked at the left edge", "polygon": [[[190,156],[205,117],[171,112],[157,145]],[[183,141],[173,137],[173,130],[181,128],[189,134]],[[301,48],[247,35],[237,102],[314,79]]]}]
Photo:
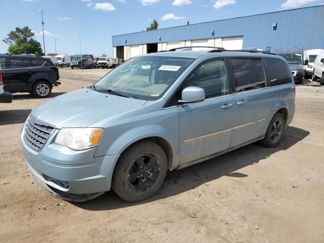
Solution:
[{"label": "black SUV with silver wheel parked at the left edge", "polygon": [[49,97],[53,86],[60,85],[58,68],[44,57],[33,55],[0,55],[5,90],[29,92],[38,98]]}]

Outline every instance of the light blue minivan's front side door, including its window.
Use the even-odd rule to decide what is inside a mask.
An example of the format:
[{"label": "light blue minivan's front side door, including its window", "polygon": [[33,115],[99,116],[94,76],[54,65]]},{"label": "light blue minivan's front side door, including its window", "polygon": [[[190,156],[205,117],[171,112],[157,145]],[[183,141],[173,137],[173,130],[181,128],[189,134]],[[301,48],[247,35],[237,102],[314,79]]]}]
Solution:
[{"label": "light blue minivan's front side door, including its window", "polygon": [[229,148],[233,127],[233,95],[229,94],[223,59],[204,62],[184,87],[205,90],[206,100],[179,106],[180,164]]}]

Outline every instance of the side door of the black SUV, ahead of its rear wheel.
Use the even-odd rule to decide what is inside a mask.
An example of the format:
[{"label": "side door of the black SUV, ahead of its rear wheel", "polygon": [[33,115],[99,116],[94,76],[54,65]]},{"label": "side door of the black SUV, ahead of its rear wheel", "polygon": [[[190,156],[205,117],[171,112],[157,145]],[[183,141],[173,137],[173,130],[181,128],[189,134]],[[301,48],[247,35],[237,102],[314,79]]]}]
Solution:
[{"label": "side door of the black SUV, ahead of its rear wheel", "polygon": [[29,91],[29,77],[32,74],[28,57],[7,57],[4,83],[9,92]]}]

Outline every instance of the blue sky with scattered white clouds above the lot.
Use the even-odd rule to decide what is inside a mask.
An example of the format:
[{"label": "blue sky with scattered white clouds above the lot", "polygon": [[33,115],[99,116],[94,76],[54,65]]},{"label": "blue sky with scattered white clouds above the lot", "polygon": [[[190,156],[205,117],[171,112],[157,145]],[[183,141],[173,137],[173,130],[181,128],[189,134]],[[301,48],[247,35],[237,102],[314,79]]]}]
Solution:
[{"label": "blue sky with scattered white clouds above the lot", "polygon": [[[111,36],[159,28],[323,4],[323,0],[1,0],[0,39],[15,27],[29,26],[42,44],[42,16],[47,53],[112,55]],[[8,45],[0,42],[0,53]]]}]

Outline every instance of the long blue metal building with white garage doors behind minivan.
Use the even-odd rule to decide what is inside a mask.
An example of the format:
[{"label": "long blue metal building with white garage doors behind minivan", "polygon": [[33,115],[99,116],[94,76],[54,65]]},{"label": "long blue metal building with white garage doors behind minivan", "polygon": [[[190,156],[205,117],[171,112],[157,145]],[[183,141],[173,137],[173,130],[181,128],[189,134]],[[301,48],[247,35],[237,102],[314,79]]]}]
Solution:
[{"label": "long blue metal building with white garage doors behind minivan", "polygon": [[114,57],[175,47],[324,49],[324,5],[112,36]]}]

